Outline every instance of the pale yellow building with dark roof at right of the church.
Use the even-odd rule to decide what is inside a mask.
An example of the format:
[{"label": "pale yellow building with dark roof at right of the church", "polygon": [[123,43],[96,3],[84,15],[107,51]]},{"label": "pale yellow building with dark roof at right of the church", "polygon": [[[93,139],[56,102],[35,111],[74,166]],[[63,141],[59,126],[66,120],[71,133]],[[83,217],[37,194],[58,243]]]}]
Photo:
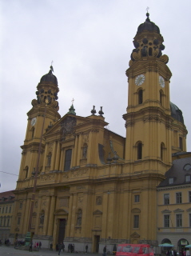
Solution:
[{"label": "pale yellow building with dark roof at right of the church", "polygon": [[191,153],[182,155],[173,155],[177,159],[157,188],[157,239],[177,251],[191,243]]}]

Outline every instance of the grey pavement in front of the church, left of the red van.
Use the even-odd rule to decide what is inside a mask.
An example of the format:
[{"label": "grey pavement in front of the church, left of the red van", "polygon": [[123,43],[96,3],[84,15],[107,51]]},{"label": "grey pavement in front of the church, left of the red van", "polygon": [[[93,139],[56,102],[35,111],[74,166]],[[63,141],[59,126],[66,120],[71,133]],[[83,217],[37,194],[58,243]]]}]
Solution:
[{"label": "grey pavement in front of the church, left of the red van", "polygon": [[[55,256],[58,255],[58,251],[53,250],[50,251],[48,249],[41,249],[39,251],[28,251],[28,250],[18,250],[14,249],[14,247],[10,246],[0,246],[0,256]],[[67,252],[61,252],[60,256],[101,256],[101,254],[85,254],[85,253],[74,253],[69,254]]]}]

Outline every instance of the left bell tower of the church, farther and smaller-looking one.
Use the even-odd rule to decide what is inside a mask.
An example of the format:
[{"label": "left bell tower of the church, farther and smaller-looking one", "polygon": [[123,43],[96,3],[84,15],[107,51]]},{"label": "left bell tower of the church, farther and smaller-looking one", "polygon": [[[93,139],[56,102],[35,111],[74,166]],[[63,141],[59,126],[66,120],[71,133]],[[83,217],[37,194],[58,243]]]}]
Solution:
[{"label": "left bell tower of the church, farther and smaller-looking one", "polygon": [[[42,76],[37,86],[37,98],[33,99],[32,109],[27,113],[28,124],[26,138],[22,147],[22,162],[18,178],[19,181],[30,179],[34,176],[35,166],[38,159],[38,148],[42,134],[46,129],[53,126],[61,118],[58,113],[58,81],[53,74],[53,66],[50,66],[48,74]],[[43,130],[42,130],[42,127]],[[38,171],[42,170],[44,157],[44,140],[42,138],[42,150]],[[22,186],[22,185],[21,185]]]}]

